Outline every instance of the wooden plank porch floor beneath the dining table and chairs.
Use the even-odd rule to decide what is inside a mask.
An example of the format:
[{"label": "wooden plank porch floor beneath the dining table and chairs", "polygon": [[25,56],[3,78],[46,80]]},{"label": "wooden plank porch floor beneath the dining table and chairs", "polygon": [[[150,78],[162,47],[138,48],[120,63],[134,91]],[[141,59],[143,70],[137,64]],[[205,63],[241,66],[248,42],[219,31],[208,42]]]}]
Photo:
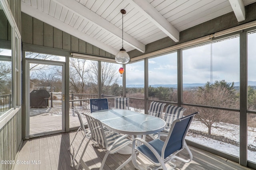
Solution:
[{"label": "wooden plank porch floor beneath the dining table and chairs", "polygon": [[[70,160],[73,156],[73,150],[68,150],[70,141],[74,138],[76,131],[70,133],[58,133],[55,135],[48,135],[44,137],[32,138],[23,142],[21,150],[18,152],[16,162],[20,161],[20,164],[14,165],[14,170],[74,170],[74,167],[70,166]],[[74,141],[74,148],[77,149],[79,142],[82,139],[81,133],[78,133],[76,140]],[[82,149],[88,139],[84,141]],[[149,139],[147,139],[149,140]],[[105,152],[98,148],[93,147],[92,142],[89,143],[86,149],[86,154],[83,156],[83,161],[88,165],[91,170],[97,170],[100,167],[102,158]],[[80,158],[82,149],[78,153],[76,160]],[[189,163],[181,163],[176,161],[176,170],[250,170],[249,168],[240,166],[239,164],[216,156],[204,150],[190,147],[193,160]],[[187,156],[186,150],[180,153],[182,156]],[[122,162],[127,160],[130,155],[123,154],[110,154],[104,165],[105,170],[114,170]],[[148,162],[143,157],[139,156],[142,161],[142,165],[146,167]],[[23,164],[22,162],[23,161]],[[24,162],[26,164],[24,164]],[[36,164],[37,163],[37,164]],[[39,164],[40,163],[40,164]],[[75,163],[76,164],[76,163]],[[80,166],[80,169],[83,169]],[[132,170],[134,166],[132,162],[129,162],[124,170]]]}]

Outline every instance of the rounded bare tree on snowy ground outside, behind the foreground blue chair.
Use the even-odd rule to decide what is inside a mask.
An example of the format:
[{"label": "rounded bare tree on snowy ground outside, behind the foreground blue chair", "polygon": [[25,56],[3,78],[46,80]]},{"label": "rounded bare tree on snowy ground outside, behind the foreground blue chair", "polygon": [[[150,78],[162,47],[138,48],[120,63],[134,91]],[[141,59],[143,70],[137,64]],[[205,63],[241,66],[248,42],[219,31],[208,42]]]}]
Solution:
[{"label": "rounded bare tree on snowy ground outside, behind the foreground blue chair", "polygon": [[[191,95],[189,100],[191,103],[200,104],[204,106],[218,106],[218,107],[234,107],[236,104],[236,96],[233,93],[233,88],[230,86],[223,86],[221,83],[209,85],[206,83],[205,88],[199,88],[194,95]],[[211,134],[211,128],[221,128],[227,130],[223,125],[230,120],[236,119],[237,114],[230,113],[230,111],[197,107],[200,114],[196,116],[197,120],[208,127],[208,134]]]}]

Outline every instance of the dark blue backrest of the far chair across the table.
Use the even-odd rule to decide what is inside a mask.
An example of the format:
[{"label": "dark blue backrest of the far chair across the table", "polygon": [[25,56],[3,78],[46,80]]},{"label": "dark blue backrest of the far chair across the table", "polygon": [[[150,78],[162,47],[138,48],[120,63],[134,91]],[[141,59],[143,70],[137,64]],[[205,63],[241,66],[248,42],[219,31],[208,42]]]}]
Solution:
[{"label": "dark blue backrest of the far chair across the table", "polygon": [[90,110],[91,113],[98,110],[108,109],[108,99],[90,99]]}]

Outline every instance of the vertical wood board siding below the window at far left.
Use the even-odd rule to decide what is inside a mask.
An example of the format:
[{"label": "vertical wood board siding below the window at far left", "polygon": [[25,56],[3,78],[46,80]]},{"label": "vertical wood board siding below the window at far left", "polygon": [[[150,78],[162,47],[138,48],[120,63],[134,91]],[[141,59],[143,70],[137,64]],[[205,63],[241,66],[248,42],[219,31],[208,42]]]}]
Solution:
[{"label": "vertical wood board siding below the window at far left", "polygon": [[[0,160],[15,160],[22,142],[21,109],[0,129]],[[0,170],[10,170],[12,164],[0,164]]]}]

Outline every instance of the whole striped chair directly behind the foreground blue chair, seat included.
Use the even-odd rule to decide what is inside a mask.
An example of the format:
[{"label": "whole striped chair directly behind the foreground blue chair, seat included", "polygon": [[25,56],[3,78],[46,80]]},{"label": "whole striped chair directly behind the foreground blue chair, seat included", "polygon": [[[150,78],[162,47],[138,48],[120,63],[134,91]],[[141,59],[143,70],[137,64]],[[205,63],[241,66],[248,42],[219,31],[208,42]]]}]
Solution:
[{"label": "whole striped chair directly behind the foreground blue chair, seat included", "polygon": [[[170,127],[172,125],[172,122],[175,121],[176,119],[179,119],[183,116],[184,111],[186,111],[186,108],[183,107],[178,107],[178,106],[173,106],[173,105],[168,105],[166,107],[165,115],[164,115],[164,121],[166,122],[166,127],[164,130],[160,132],[160,136],[167,136]],[[149,135],[153,139],[158,138],[158,133],[155,133],[153,135]]]}]

